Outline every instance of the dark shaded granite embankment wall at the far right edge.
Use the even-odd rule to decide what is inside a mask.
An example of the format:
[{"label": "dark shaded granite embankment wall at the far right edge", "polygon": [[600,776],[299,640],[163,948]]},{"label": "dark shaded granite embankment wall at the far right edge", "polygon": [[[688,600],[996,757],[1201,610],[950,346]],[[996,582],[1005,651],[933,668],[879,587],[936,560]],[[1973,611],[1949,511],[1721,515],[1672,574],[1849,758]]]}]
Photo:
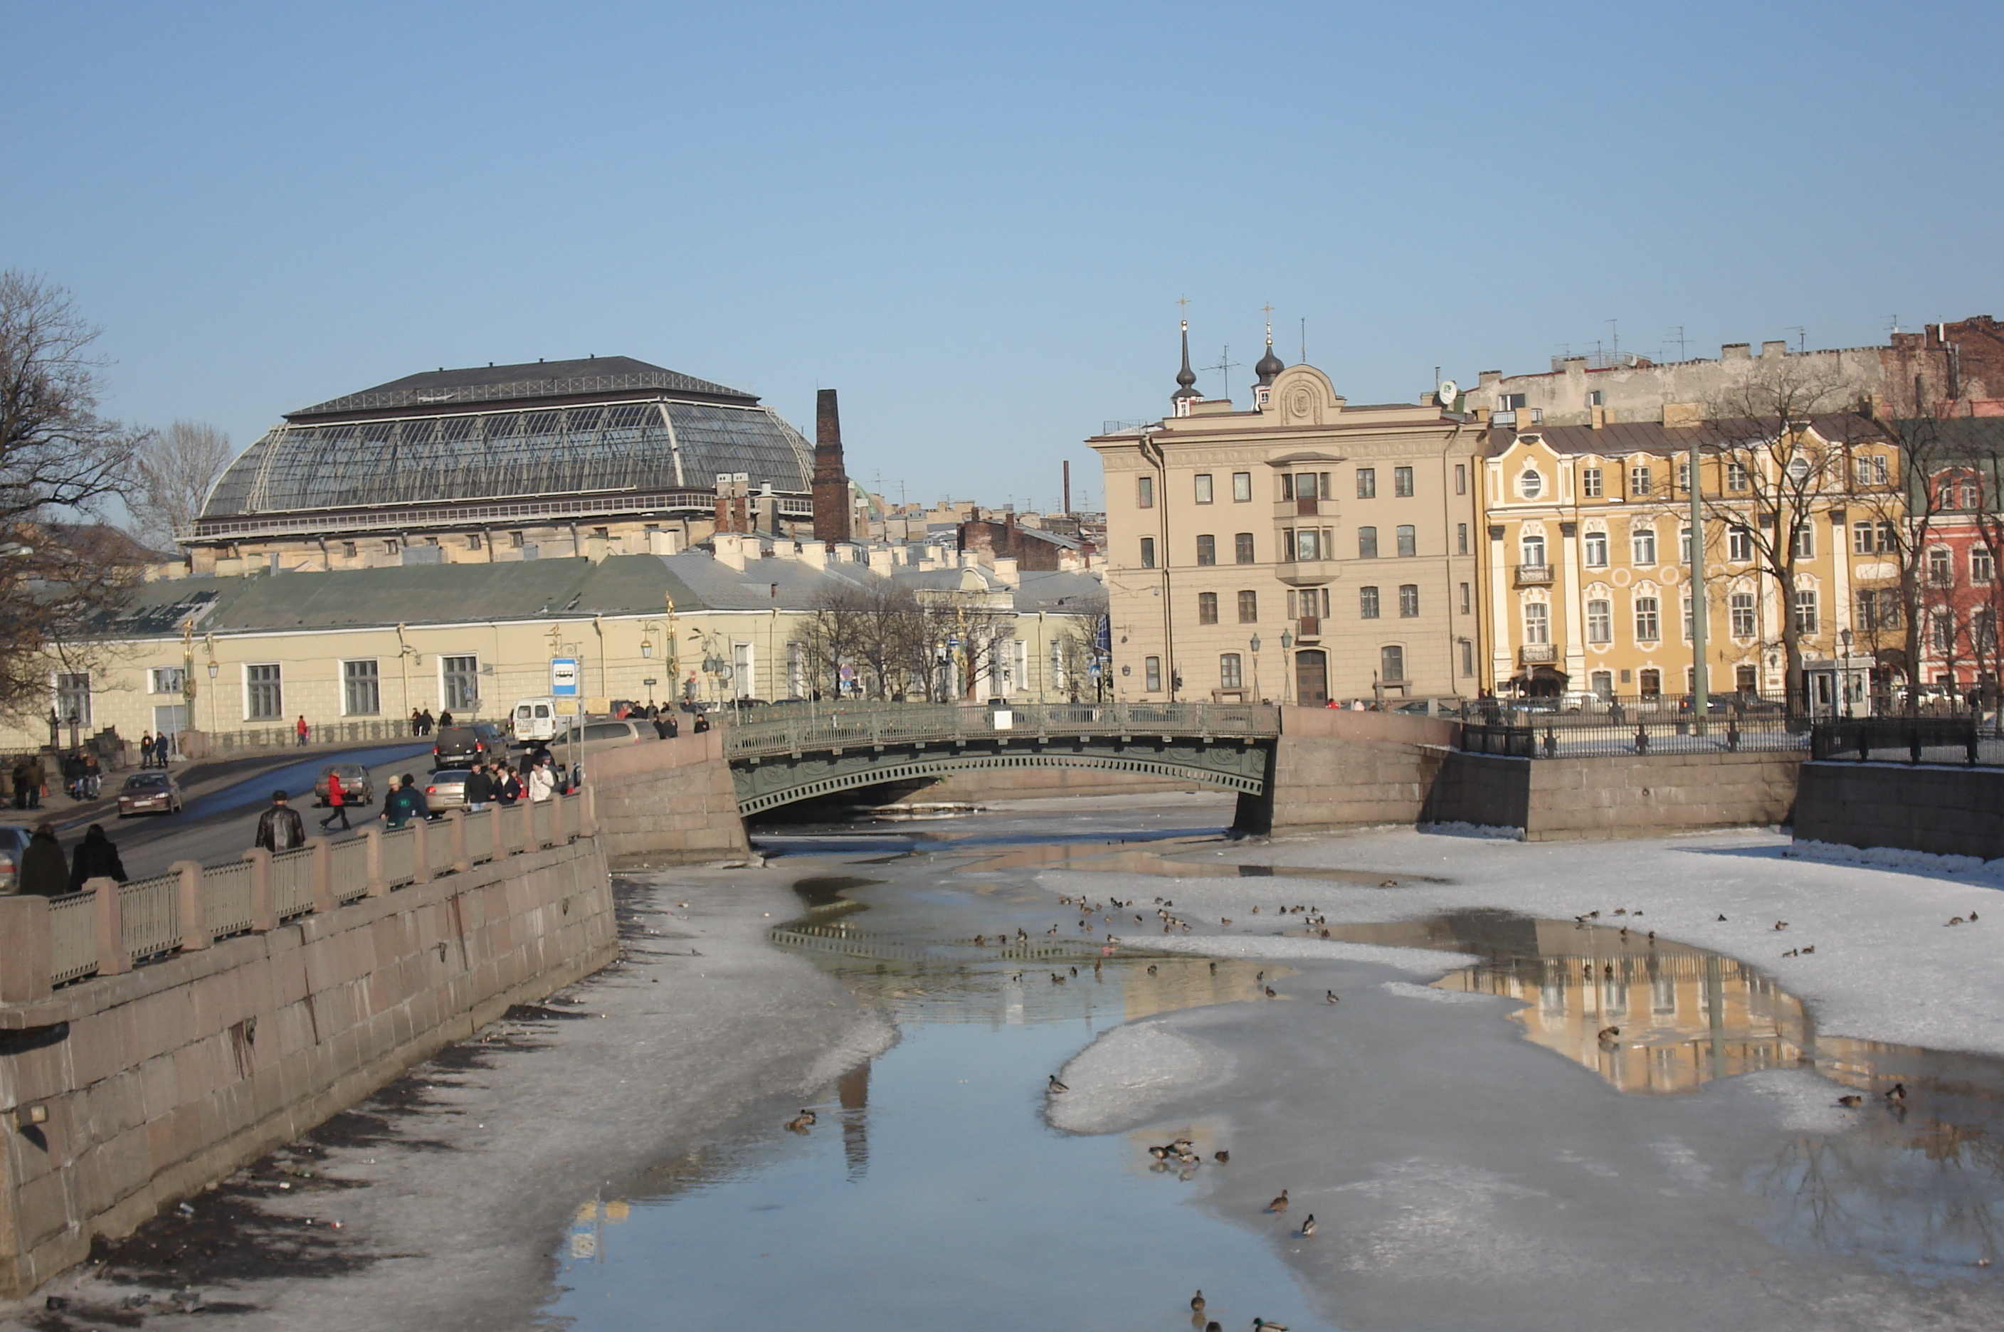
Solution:
[{"label": "dark shaded granite embankment wall at the far right edge", "polygon": [[1804,763],[1796,837],[1998,859],[2004,769]]}]

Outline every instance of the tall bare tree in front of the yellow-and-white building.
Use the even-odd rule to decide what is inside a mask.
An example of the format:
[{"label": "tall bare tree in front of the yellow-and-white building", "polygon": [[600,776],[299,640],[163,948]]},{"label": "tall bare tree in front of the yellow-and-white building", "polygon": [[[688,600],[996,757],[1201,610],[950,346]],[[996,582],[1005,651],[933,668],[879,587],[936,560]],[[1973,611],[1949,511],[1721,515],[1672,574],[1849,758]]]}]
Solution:
[{"label": "tall bare tree in front of the yellow-and-white building", "polygon": [[1719,455],[1723,489],[1705,507],[1743,531],[1754,567],[1774,585],[1792,709],[1808,703],[1802,669],[1808,617],[1798,613],[1796,569],[1814,549],[1816,517],[1844,491],[1844,461],[1852,445],[1848,437],[1834,441],[1818,433],[1812,417],[1838,407],[1840,395],[1842,385],[1834,377],[1818,375],[1792,357],[1709,405],[1709,443]]}]

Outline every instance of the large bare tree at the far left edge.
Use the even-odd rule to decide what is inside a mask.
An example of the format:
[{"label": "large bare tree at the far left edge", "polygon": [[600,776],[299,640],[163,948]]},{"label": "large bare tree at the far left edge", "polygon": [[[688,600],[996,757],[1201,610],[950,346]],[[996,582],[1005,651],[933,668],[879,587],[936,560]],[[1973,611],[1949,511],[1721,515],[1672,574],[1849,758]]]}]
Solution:
[{"label": "large bare tree at the far left edge", "polygon": [[98,519],[138,435],[98,417],[98,330],[64,288],[0,272],[0,711],[48,707],[48,673],[88,669],[90,639],[136,577]]}]

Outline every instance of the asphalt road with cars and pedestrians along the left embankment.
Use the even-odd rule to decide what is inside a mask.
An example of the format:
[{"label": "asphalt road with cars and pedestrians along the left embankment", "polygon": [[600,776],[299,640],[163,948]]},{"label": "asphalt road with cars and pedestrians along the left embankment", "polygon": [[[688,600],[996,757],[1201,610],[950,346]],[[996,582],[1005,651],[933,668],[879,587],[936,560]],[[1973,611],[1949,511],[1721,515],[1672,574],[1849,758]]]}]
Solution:
[{"label": "asphalt road with cars and pedestrians along the left embankment", "polygon": [[[116,811],[110,811],[96,821],[104,823],[104,831],[110,833],[114,843],[118,843],[118,855],[124,861],[126,877],[142,879],[146,875],[166,873],[166,867],[180,859],[196,859],[206,865],[242,855],[250,849],[250,843],[257,837],[259,815],[271,805],[271,793],[279,789],[291,793],[293,807],[299,809],[299,817],[307,821],[307,833],[319,833],[319,821],[327,817],[327,811],[315,809],[313,805],[313,781],[329,763],[369,765],[369,777],[375,785],[377,799],[373,805],[349,807],[349,821],[361,829],[369,819],[381,817],[383,793],[389,791],[391,777],[415,773],[417,779],[423,781],[431,769],[429,759],[429,741],[361,745],[355,749],[315,749],[311,757],[283,767],[253,767],[244,777],[188,799],[180,813],[148,813],[120,819]],[[122,783],[124,773],[120,773],[116,781]],[[106,781],[104,789],[110,793],[116,785]],[[50,813],[56,813],[58,819],[62,817],[60,811]],[[64,821],[58,823],[58,827],[62,827],[62,847],[68,851],[78,839],[82,839],[86,825],[70,825]],[[331,833],[337,841],[341,837],[359,835],[359,831],[343,833],[339,829],[341,825],[335,823],[335,831]]]}]

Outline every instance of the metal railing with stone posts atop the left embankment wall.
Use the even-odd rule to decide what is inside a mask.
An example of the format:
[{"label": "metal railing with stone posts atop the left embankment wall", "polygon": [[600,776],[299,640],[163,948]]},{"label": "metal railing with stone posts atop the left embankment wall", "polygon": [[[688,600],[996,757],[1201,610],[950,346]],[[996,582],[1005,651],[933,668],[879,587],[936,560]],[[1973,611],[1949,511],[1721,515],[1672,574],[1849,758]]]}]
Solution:
[{"label": "metal railing with stone posts atop the left embankment wall", "polygon": [[[94,879],[86,891],[48,899],[48,983],[124,971],[184,947],[206,947],[210,939],[271,929],[285,919],[339,907],[369,893],[443,877],[453,871],[461,835],[471,861],[561,845],[585,833],[587,799],[513,805],[499,815],[469,817],[453,811],[427,823],[423,833],[417,827],[369,827],[361,837],[345,841],[281,855],[253,851],[242,859],[190,867],[186,873],[192,877],[176,869],[130,883]],[[419,871],[421,843],[429,873]],[[188,919],[190,911],[196,919]],[[112,923],[110,941],[98,937],[100,921],[106,919]]]}]

